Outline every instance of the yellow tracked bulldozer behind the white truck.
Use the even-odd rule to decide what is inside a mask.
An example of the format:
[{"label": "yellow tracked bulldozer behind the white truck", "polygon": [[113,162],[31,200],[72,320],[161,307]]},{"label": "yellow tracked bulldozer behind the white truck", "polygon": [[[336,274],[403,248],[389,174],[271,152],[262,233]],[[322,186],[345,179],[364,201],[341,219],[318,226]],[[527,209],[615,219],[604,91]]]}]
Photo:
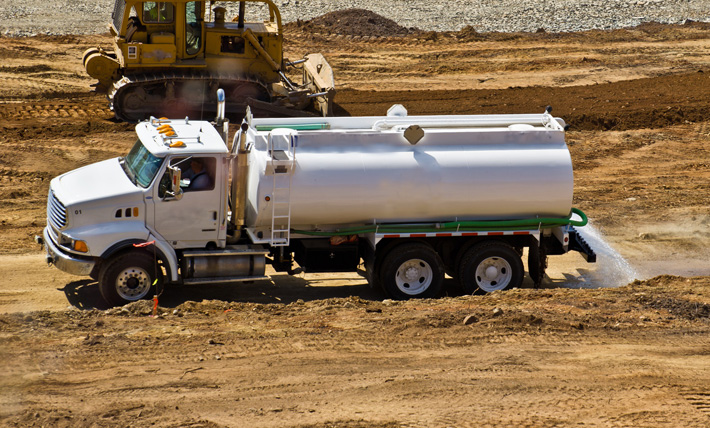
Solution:
[{"label": "yellow tracked bulldozer behind the white truck", "polygon": [[88,49],[83,63],[120,120],[210,113],[217,88],[228,114],[332,115],[332,68],[321,54],[284,58],[271,0],[116,0],[109,31],[113,49]]}]

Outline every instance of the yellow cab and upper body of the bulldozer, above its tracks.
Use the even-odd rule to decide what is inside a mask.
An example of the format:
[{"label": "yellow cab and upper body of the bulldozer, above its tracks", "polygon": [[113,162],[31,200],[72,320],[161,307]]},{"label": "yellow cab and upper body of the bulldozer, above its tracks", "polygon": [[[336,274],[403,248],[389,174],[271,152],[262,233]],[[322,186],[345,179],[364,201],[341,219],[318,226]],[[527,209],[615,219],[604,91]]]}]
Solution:
[{"label": "yellow cab and upper body of the bulldozer, above its tracks", "polygon": [[282,67],[281,16],[270,0],[116,0],[111,32],[127,69],[229,62],[275,82]]}]

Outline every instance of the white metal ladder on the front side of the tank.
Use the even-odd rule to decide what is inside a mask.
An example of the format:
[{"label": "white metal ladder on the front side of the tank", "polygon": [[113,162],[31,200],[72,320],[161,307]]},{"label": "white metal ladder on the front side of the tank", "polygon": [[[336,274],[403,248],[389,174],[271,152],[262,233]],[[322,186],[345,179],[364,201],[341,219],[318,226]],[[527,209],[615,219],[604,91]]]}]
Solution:
[{"label": "white metal ladder on the front side of the tank", "polygon": [[274,130],[268,137],[267,172],[274,177],[271,191],[272,247],[291,242],[291,182],[296,164],[296,137],[293,130]]}]

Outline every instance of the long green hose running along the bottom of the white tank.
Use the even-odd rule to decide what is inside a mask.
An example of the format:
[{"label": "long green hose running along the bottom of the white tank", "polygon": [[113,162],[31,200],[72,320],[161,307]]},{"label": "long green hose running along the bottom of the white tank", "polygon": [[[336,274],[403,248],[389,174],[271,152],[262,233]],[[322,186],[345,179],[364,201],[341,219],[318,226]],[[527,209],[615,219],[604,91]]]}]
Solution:
[{"label": "long green hose running along the bottom of the white tank", "polygon": [[[577,214],[581,220],[572,220],[572,214]],[[363,233],[435,233],[457,231],[485,231],[485,230],[520,230],[529,228],[543,228],[554,226],[585,226],[588,222],[586,214],[579,208],[572,208],[567,218],[530,218],[522,220],[482,220],[482,221],[452,221],[446,223],[422,224],[388,224],[357,226],[337,229],[332,232],[310,231],[291,229],[292,233],[310,236],[344,236],[359,235]]]}]

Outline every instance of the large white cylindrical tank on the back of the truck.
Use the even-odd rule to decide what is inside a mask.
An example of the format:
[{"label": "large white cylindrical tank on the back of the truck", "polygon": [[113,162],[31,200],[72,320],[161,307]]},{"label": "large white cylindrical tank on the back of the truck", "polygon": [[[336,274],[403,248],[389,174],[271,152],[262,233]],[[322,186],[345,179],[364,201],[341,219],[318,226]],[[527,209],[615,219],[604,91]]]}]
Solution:
[{"label": "large white cylindrical tank on the back of the truck", "polygon": [[549,114],[253,119],[246,226],[567,217],[563,127]]}]

